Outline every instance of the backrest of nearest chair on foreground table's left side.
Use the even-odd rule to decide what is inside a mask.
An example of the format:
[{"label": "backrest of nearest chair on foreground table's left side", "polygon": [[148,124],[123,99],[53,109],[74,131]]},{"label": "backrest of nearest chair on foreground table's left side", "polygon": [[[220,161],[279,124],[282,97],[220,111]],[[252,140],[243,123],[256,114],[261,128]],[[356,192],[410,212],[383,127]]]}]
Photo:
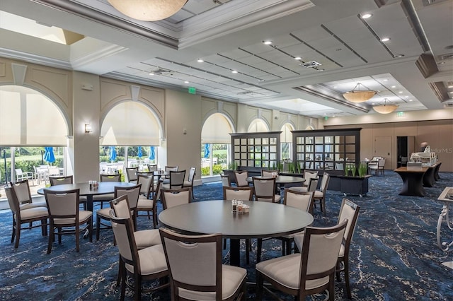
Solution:
[{"label": "backrest of nearest chair on foreground table's left side", "polygon": [[141,274],[142,271],[134,237],[134,223],[132,223],[132,218],[119,218],[115,216],[113,209],[110,209],[109,216],[121,259],[126,264],[134,266],[134,273]]}]

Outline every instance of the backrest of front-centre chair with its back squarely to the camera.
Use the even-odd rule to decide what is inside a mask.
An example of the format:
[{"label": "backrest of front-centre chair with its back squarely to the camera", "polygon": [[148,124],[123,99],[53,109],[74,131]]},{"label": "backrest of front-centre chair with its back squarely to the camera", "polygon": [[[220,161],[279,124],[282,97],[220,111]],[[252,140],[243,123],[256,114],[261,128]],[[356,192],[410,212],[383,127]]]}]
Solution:
[{"label": "backrest of front-centre chair with its back squarely to the camera", "polygon": [[195,295],[193,300],[222,300],[222,234],[182,235],[165,228],[159,232],[172,300],[188,295]]}]

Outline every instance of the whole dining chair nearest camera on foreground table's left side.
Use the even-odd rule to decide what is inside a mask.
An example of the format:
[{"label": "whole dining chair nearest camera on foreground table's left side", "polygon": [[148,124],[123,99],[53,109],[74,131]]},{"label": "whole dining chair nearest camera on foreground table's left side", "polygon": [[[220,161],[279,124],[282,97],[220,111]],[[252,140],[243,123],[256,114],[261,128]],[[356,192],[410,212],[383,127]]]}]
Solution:
[{"label": "whole dining chair nearest camera on foreground table's left side", "polygon": [[[134,300],[141,300],[142,293],[153,293],[167,288],[168,268],[162,244],[139,250],[134,237],[132,218],[118,218],[115,211],[110,209],[109,219],[120,253],[120,300],[125,300],[126,287],[134,292]],[[130,278],[133,281],[130,281]],[[144,288],[143,281],[159,281],[159,285]]]}]

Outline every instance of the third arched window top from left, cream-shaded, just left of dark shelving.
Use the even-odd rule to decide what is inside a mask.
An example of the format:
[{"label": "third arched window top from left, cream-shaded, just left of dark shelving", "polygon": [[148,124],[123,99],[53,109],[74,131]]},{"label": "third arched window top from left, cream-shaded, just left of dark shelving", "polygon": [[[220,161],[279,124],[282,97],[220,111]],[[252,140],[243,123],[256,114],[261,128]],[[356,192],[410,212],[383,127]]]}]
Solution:
[{"label": "third arched window top from left, cream-shaded, just left of dark shelving", "polygon": [[208,117],[201,131],[202,143],[231,143],[233,132],[229,119],[224,114],[215,113]]}]

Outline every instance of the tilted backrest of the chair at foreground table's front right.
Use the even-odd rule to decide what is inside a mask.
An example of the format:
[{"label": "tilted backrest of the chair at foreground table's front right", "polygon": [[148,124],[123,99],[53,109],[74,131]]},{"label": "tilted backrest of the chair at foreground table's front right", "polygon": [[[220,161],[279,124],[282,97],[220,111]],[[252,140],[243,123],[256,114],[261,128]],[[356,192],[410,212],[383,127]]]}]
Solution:
[{"label": "tilted backrest of the chair at foreground table's front right", "polygon": [[306,290],[307,282],[330,276],[336,271],[338,253],[347,221],[329,228],[307,227],[302,242],[300,290]]}]

